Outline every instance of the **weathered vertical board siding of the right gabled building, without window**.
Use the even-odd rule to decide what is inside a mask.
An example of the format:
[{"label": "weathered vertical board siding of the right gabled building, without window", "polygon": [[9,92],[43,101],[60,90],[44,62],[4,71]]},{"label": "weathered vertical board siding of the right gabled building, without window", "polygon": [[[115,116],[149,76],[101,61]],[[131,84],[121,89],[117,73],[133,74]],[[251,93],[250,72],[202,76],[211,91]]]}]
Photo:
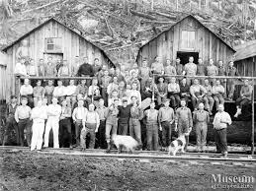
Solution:
[{"label": "weathered vertical board siding of the right gabled building, without window", "polygon": [[[195,31],[195,48],[193,50],[182,49],[182,31]],[[175,60],[177,51],[199,52],[205,63],[213,58],[214,62],[223,60],[227,63],[233,56],[233,50],[223,43],[213,32],[210,32],[193,17],[187,17],[174,25],[169,31],[163,32],[139,49],[137,61],[141,64],[143,58],[147,58],[151,64],[156,55],[162,62],[167,58]]]}]

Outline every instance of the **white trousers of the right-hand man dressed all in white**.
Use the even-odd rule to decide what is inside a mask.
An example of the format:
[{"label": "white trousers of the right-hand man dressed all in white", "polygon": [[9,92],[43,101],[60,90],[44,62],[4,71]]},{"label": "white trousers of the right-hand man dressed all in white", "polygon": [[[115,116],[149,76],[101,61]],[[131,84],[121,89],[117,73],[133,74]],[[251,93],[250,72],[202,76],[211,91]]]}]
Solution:
[{"label": "white trousers of the right-hand man dressed all in white", "polygon": [[52,128],[52,133],[53,133],[53,148],[58,149],[59,148],[59,143],[58,143],[58,129],[59,129],[59,124],[58,124],[58,119],[56,118],[48,118],[45,126],[45,132],[44,132],[44,147],[48,147],[48,135],[49,131]]}]

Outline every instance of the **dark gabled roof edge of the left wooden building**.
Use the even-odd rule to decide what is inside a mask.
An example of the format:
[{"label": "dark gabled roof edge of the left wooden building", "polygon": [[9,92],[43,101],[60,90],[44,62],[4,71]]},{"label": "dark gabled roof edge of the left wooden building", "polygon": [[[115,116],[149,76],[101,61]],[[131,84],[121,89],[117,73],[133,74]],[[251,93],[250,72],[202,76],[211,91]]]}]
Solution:
[{"label": "dark gabled roof edge of the left wooden building", "polygon": [[[86,41],[90,42],[92,45],[94,45],[95,47],[99,48],[102,53],[109,58],[109,56],[107,56],[106,52],[100,48],[99,46],[97,46],[96,44],[94,44],[93,42],[91,42],[90,40],[86,39],[85,36],[83,36],[82,34],[80,34],[79,32],[76,32],[74,30],[72,30],[71,28],[69,28],[68,26],[62,24],[61,22],[57,21],[55,18],[50,18],[48,20],[46,20],[45,22],[43,22],[43,24],[39,25],[38,27],[34,28],[33,30],[31,30],[30,32],[25,33],[24,35],[22,35],[21,37],[19,37],[18,39],[16,39],[15,41],[13,41],[12,43],[10,43],[9,45],[5,46],[4,48],[2,48],[2,51],[6,51],[8,48],[10,48],[11,46],[13,46],[14,44],[16,44],[17,42],[21,41],[22,39],[24,39],[25,37],[27,37],[28,35],[30,35],[32,32],[36,32],[38,30],[40,30],[41,28],[43,28],[43,26],[45,26],[46,24],[48,24],[49,22],[54,21],[56,23],[58,23],[61,26],[64,26],[65,28],[67,28],[68,30],[70,30],[71,32],[75,32],[77,35],[79,35],[80,37],[84,38]],[[114,63],[112,62],[112,60],[109,58],[110,62],[114,65]]]}]

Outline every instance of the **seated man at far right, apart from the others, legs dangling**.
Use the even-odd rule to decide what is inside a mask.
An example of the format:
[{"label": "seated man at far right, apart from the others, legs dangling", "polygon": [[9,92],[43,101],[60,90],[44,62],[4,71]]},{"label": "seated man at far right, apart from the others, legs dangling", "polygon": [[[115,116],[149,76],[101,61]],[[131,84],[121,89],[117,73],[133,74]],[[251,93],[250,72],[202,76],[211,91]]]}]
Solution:
[{"label": "seated man at far right, apart from the others, legs dangling", "polygon": [[237,111],[236,111],[234,117],[238,117],[238,115],[240,115],[242,113],[241,112],[242,107],[245,104],[248,104],[248,102],[251,101],[251,99],[252,99],[252,86],[249,85],[248,80],[244,80],[244,85],[241,88],[240,96],[235,101]]}]

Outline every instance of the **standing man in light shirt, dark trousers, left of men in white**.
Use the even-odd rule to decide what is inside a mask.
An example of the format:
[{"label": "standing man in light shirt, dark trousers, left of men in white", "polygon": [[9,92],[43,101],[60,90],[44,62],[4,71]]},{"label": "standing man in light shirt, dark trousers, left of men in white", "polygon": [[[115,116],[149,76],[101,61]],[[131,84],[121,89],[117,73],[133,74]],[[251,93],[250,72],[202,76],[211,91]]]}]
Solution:
[{"label": "standing man in light shirt, dark trousers, left of men in white", "polygon": [[31,107],[27,105],[28,98],[21,97],[21,105],[16,108],[15,120],[19,127],[19,143],[24,146],[24,130],[26,129],[26,140],[28,147],[31,147]]}]

